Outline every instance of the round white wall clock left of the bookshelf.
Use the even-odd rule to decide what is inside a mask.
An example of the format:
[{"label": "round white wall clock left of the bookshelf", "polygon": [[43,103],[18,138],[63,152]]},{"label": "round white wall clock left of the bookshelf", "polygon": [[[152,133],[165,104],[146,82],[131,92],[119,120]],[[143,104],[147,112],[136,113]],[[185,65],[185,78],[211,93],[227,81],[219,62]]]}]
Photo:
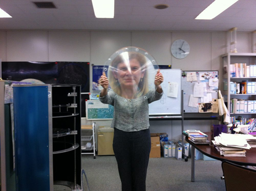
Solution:
[{"label": "round white wall clock left of the bookshelf", "polygon": [[174,41],[172,47],[170,48],[170,51],[175,58],[182,59],[189,54],[190,47],[187,41],[179,39]]}]

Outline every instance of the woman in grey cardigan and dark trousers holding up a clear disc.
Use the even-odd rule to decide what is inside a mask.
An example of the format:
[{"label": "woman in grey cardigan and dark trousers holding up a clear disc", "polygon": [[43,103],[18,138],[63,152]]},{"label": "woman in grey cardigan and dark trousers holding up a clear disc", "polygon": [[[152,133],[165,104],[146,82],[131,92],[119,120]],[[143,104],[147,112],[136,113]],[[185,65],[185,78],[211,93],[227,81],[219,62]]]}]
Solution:
[{"label": "woman in grey cardigan and dark trousers holding up a clear disc", "polygon": [[[118,164],[122,191],[146,190],[146,170],[151,150],[148,104],[161,99],[163,76],[158,69],[156,90],[148,90],[147,67],[140,53],[116,57],[109,69],[113,90],[103,73],[100,101],[114,106],[111,127],[114,128],[113,150]],[[114,88],[113,88],[114,87]]]}]

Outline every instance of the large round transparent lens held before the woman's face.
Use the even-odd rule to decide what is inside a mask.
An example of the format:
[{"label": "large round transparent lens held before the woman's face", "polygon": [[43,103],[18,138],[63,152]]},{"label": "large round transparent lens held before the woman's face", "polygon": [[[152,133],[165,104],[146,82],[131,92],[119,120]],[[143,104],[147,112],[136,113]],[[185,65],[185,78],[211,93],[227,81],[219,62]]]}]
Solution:
[{"label": "large round transparent lens held before the woman's face", "polygon": [[143,49],[124,47],[106,61],[105,68],[111,89],[123,98],[148,98],[148,92],[156,90],[154,82],[159,67]]}]

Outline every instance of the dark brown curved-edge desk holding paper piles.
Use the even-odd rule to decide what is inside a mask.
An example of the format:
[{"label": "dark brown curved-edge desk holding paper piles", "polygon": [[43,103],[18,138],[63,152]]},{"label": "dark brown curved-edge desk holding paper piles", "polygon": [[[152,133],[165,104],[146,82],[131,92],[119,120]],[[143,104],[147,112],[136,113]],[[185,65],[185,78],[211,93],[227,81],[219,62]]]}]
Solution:
[{"label": "dark brown curved-edge desk holding paper piles", "polygon": [[246,149],[246,157],[224,157],[214,146],[194,144],[188,140],[187,136],[186,141],[191,145],[191,182],[195,182],[195,148],[204,155],[220,161],[226,160],[238,165],[256,166],[256,148]]}]

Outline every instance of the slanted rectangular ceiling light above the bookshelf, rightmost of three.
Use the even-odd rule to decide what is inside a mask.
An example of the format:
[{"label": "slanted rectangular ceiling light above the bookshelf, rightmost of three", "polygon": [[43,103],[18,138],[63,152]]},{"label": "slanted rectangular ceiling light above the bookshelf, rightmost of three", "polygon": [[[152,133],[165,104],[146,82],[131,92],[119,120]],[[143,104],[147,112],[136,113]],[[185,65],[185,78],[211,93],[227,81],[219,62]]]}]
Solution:
[{"label": "slanted rectangular ceiling light above the bookshelf, rightmost of three", "polygon": [[238,0],[215,0],[209,5],[202,13],[200,13],[195,19],[212,19],[217,15],[221,14],[231,5],[236,3]]}]

